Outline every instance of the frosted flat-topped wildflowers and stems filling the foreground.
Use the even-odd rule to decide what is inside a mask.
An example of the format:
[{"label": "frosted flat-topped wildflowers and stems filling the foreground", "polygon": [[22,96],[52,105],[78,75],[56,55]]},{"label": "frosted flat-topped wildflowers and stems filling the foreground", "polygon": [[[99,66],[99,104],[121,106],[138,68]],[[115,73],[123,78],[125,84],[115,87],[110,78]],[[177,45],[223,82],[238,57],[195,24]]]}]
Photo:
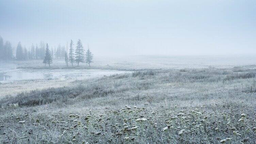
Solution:
[{"label": "frosted flat-topped wildflowers and stems filling the foreground", "polygon": [[256,140],[254,107],[238,104],[35,113],[6,116],[0,123],[1,142],[249,144]]}]

